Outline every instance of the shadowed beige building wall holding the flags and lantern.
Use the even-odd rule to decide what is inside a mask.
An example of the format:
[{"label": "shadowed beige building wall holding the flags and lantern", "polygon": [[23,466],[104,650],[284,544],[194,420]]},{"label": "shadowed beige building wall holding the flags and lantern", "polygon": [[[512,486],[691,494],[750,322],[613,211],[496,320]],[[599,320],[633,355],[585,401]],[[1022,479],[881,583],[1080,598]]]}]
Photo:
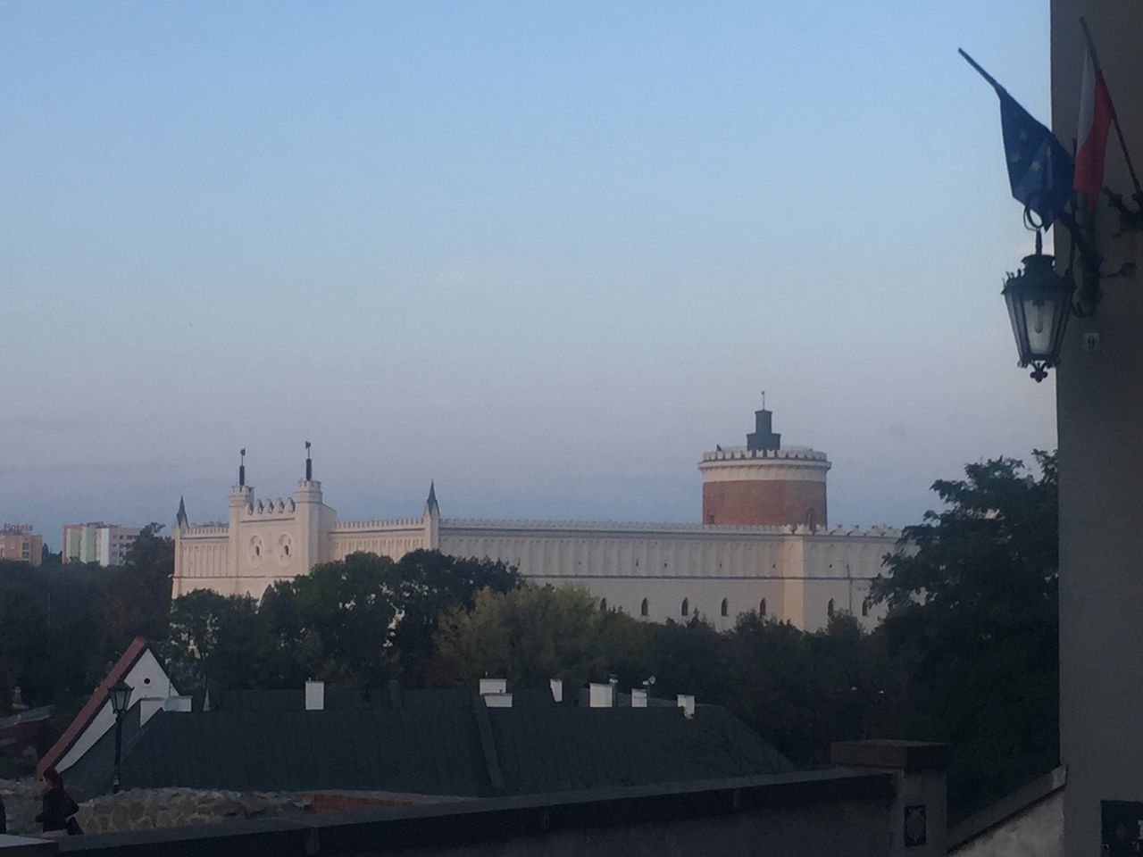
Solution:
[{"label": "shadowed beige building wall holding the flags and lantern", "polygon": [[[1052,1],[1053,127],[1069,145],[1084,62],[1080,15],[1143,167],[1143,3]],[[1113,130],[1105,184],[1130,199]],[[1103,269],[1124,262],[1143,269],[1143,233],[1121,226],[1101,199],[1095,227]],[[1066,257],[1058,238],[1057,255]],[[1064,852],[1077,857],[1101,852],[1101,801],[1143,801],[1143,281],[1138,274],[1108,279],[1103,289],[1096,314],[1069,323],[1056,371]],[[1088,333],[1098,334],[1098,350],[1082,347]]]}]

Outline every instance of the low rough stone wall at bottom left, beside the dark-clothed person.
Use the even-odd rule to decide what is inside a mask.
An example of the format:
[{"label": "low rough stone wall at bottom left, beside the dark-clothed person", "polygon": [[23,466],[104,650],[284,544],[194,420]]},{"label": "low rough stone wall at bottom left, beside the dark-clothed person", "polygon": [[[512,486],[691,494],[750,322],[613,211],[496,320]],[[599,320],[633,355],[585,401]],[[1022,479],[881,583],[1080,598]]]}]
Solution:
[{"label": "low rough stone wall at bottom left, beside the dark-clothed person", "polygon": [[[8,833],[40,832],[40,825],[33,819],[40,811],[42,790],[30,779],[0,780],[0,800],[8,811]],[[307,799],[291,794],[139,788],[81,803],[75,818],[85,833],[122,833],[312,811]]]}]

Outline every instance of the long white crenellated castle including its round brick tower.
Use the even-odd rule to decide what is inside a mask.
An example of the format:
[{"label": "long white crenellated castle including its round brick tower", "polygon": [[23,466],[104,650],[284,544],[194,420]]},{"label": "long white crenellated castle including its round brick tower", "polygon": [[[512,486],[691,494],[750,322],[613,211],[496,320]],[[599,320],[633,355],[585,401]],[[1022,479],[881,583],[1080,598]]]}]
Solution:
[{"label": "long white crenellated castle including its round brick tower", "polygon": [[813,449],[783,449],[770,419],[757,411],[745,447],[703,455],[702,523],[442,518],[434,487],[418,518],[338,521],[309,458],[290,499],[257,499],[243,464],[226,523],[191,524],[179,502],[173,595],[209,588],[261,598],[319,562],[427,548],[504,560],[539,584],[580,584],[601,609],[654,622],[701,616],[726,628],[753,610],[816,630],[845,610],[871,626],[881,610],[868,602],[870,584],[900,532],[829,529],[830,462]]}]

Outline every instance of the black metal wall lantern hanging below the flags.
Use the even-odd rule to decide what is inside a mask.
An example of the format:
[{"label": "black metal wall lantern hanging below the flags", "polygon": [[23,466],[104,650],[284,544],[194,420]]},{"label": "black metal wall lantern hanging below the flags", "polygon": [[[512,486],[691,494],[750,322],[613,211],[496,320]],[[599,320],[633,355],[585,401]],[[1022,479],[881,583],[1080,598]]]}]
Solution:
[{"label": "black metal wall lantern hanging below the flags", "polygon": [[1024,270],[1008,274],[1004,299],[1008,304],[1012,333],[1022,367],[1032,367],[1032,377],[1044,381],[1047,370],[1060,362],[1068,317],[1072,312],[1076,281],[1069,271],[1055,272],[1055,259],[1044,254],[1040,233],[1036,233],[1036,253],[1025,256]]}]

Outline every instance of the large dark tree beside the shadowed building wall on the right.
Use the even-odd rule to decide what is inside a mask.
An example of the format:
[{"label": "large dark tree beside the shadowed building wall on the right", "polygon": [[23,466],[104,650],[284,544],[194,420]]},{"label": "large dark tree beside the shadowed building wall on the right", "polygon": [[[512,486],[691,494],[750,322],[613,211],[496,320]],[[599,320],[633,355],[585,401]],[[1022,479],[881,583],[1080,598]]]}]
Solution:
[{"label": "large dark tree beside the shadowed building wall on the right", "polygon": [[1057,480],[999,458],[933,484],[945,504],[905,528],[872,596],[911,679],[901,731],[953,745],[950,804],[983,806],[1054,767],[1058,753]]}]

